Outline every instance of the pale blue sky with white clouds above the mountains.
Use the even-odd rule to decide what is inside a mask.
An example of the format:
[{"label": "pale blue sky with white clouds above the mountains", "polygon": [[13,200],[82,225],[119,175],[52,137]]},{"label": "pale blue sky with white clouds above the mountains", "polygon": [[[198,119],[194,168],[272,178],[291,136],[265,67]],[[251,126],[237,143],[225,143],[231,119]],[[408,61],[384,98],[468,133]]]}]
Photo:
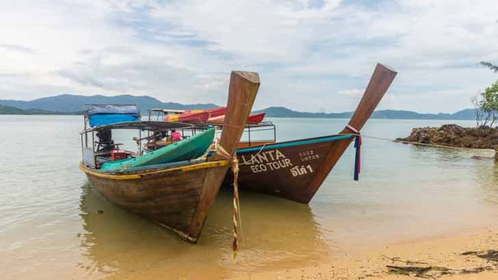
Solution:
[{"label": "pale blue sky with white clouds above the mountains", "polygon": [[0,99],[149,95],[226,103],[256,71],[255,109],[354,110],[377,62],[379,109],[456,112],[498,79],[496,0],[0,0]]}]

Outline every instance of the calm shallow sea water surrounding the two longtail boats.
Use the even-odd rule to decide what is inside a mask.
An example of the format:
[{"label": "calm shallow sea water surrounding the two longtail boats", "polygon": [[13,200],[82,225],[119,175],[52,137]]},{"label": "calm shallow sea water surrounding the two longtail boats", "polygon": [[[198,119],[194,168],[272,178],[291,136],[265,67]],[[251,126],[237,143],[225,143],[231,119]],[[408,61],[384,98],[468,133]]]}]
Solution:
[{"label": "calm shallow sea water surrounding the two longtail boats", "polygon": [[[337,133],[348,122],[268,120],[279,141]],[[187,244],[90,186],[78,168],[81,116],[0,116],[1,279],[225,279],[485,229],[498,217],[498,168],[486,158],[493,152],[389,141],[447,123],[475,125],[369,120],[359,181],[351,146],[309,205],[241,192],[242,236],[233,259],[230,188],[220,191],[198,244]]]}]

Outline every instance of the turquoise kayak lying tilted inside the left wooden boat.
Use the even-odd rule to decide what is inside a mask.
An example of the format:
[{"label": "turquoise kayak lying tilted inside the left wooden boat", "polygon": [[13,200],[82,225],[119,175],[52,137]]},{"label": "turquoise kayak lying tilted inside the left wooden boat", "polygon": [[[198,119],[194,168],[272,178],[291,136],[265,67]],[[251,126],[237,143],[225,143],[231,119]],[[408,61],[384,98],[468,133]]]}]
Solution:
[{"label": "turquoise kayak lying tilted inside the left wooden boat", "polygon": [[105,164],[102,164],[101,170],[124,170],[140,166],[192,160],[204,154],[213,142],[213,139],[214,129],[210,128],[187,139],[141,155],[140,157],[105,162]]}]

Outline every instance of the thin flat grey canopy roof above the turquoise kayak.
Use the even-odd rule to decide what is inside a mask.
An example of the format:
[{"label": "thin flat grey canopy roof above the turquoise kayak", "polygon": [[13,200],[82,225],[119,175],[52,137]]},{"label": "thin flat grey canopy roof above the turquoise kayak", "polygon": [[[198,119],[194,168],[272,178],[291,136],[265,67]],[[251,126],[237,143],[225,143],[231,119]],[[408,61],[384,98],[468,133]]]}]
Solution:
[{"label": "thin flat grey canopy roof above the turquoise kayak", "polygon": [[92,127],[87,129],[85,132],[91,131],[101,131],[108,129],[141,129],[148,131],[166,131],[172,129],[191,129],[194,128],[194,125],[190,125],[188,123],[178,123],[178,122],[164,122],[164,121],[152,121],[152,120],[144,120],[144,121],[131,121],[124,123],[113,123],[111,125],[100,125],[98,127]]}]

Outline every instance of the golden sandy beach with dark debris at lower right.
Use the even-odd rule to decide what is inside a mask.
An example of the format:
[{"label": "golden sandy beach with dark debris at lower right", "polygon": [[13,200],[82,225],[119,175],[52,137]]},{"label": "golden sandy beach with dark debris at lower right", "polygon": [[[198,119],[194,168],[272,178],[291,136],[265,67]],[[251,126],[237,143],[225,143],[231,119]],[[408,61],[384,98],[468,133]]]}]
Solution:
[{"label": "golden sandy beach with dark debris at lower right", "polygon": [[[326,262],[311,266],[296,266],[244,275],[232,275],[231,280],[247,279],[414,279],[415,272],[389,272],[388,266],[417,266],[432,269],[421,278],[437,279],[498,279],[497,262],[477,255],[496,249],[498,230],[483,229],[421,240],[389,244],[378,249],[355,251],[343,257],[330,257]],[[392,269],[392,268],[391,268]]]}]

